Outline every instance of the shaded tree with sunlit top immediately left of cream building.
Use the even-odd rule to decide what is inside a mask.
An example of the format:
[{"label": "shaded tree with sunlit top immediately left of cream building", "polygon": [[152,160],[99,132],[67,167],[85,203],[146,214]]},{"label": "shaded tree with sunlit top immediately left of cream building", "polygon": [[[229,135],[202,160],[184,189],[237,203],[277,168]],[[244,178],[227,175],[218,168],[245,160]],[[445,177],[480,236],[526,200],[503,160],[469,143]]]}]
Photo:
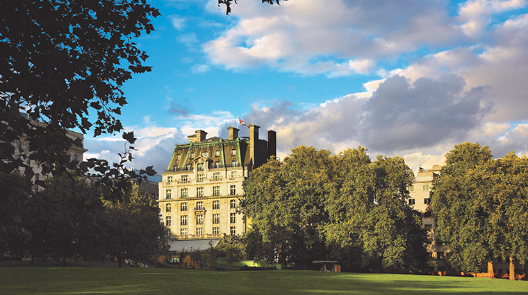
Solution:
[{"label": "shaded tree with sunlit top immediately left of cream building", "polygon": [[156,201],[139,196],[135,184],[126,199],[130,201],[105,201],[106,253],[119,267],[124,260],[145,262],[165,244],[165,226],[160,223]]}]

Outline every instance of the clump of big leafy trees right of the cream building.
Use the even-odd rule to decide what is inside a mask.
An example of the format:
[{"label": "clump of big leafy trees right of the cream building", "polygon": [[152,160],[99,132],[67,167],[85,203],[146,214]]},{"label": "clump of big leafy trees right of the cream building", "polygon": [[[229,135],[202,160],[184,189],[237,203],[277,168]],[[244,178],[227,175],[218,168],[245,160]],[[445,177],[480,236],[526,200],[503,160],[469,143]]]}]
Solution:
[{"label": "clump of big leafy trees right of the cream building", "polygon": [[427,232],[408,205],[413,178],[403,158],[372,161],[361,146],[338,155],[297,146],[244,183],[247,255],[303,269],[331,257],[349,270],[422,270]]}]

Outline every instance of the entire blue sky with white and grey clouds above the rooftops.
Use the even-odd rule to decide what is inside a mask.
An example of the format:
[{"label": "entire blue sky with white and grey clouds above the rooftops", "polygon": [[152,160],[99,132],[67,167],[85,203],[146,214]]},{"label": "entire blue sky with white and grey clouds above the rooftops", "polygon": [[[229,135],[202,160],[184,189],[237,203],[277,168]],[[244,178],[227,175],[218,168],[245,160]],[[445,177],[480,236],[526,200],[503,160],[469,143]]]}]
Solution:
[{"label": "entire blue sky with white and grey clouds above the rooftops", "polygon": [[[466,141],[525,153],[527,1],[239,0],[229,16],[216,0],[149,3],[162,15],[136,42],[152,71],[126,82],[119,117],[133,167],[161,173],[174,144],[226,137],[237,115],[276,130],[281,158],[361,145],[416,171]],[[115,160],[119,138],[87,135],[85,158]]]}]

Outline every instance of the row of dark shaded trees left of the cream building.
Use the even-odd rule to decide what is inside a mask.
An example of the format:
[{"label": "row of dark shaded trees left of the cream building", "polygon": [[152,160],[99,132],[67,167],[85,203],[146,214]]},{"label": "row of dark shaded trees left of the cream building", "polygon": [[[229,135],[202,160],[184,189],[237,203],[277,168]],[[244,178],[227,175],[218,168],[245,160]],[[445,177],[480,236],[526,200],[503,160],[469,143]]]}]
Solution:
[{"label": "row of dark shaded trees left of the cream building", "polygon": [[138,195],[105,201],[97,183],[62,174],[34,189],[17,173],[0,173],[0,256],[57,262],[145,262],[165,245],[156,201]]}]

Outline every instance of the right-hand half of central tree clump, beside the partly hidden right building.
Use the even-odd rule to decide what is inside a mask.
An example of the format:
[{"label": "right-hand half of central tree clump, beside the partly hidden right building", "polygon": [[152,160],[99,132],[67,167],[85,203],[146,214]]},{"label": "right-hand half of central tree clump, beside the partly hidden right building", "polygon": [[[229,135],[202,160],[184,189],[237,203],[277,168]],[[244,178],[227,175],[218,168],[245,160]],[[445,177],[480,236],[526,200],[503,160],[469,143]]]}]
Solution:
[{"label": "right-hand half of central tree clump, beside the partly hidden right building", "polygon": [[417,270],[427,260],[420,213],[407,205],[413,173],[402,158],[349,149],[333,157],[338,177],[327,199],[323,231],[338,259],[352,268]]}]

